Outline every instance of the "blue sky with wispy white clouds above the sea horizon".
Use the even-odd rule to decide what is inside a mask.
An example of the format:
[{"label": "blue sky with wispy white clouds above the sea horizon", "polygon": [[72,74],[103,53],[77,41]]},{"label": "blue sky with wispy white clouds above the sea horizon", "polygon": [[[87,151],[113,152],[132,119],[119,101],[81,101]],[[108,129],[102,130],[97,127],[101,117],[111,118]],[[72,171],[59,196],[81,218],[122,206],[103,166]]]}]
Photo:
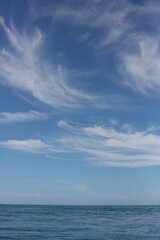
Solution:
[{"label": "blue sky with wispy white clouds above the sea horizon", "polygon": [[158,0],[0,0],[0,203],[160,204]]}]

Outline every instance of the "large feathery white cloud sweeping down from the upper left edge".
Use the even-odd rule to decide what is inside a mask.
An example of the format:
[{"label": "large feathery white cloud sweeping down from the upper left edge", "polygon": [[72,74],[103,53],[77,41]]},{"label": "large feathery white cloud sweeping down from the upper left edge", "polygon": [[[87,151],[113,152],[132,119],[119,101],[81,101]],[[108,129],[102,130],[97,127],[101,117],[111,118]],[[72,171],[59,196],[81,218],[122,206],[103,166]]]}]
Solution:
[{"label": "large feathery white cloud sweeping down from the upper left edge", "polygon": [[51,66],[42,57],[46,44],[44,33],[38,28],[32,34],[25,29],[20,33],[13,24],[7,27],[2,17],[0,25],[12,47],[0,51],[1,84],[29,92],[36,99],[58,108],[92,102],[91,96],[68,83],[67,70],[53,63]]}]

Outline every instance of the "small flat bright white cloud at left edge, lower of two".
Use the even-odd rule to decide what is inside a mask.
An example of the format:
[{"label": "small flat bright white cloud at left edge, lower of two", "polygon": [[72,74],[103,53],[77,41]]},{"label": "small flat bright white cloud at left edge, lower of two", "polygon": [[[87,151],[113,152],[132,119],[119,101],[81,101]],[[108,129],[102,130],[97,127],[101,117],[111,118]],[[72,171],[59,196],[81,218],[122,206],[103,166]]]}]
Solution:
[{"label": "small flat bright white cloud at left edge, lower of two", "polygon": [[0,142],[0,145],[5,148],[34,152],[44,153],[49,151],[49,145],[39,139],[26,139],[26,140],[7,140]]}]

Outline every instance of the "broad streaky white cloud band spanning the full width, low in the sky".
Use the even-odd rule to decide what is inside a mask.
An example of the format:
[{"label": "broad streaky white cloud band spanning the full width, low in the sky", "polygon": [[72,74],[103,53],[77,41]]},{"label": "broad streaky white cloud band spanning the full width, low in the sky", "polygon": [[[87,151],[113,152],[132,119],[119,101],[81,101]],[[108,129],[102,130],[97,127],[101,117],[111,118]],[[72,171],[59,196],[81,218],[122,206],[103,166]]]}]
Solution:
[{"label": "broad streaky white cloud band spanning the full width, low in the sky", "polygon": [[152,129],[136,131],[129,124],[115,128],[103,125],[84,127],[71,125],[64,120],[61,120],[58,126],[65,129],[66,133],[63,133],[63,136],[48,139],[47,143],[40,139],[8,140],[1,141],[0,146],[31,153],[49,154],[53,158],[57,158],[60,154],[61,159],[66,160],[71,159],[71,156],[74,159],[74,154],[76,156],[79,154],[80,161],[86,160],[96,166],[160,165],[159,129],[153,126]]}]

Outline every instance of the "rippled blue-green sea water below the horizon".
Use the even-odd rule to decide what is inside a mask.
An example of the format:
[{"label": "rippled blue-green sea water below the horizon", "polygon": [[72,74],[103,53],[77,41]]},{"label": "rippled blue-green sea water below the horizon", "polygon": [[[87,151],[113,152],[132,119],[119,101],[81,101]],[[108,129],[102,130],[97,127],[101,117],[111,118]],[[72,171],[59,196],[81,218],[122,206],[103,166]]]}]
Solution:
[{"label": "rippled blue-green sea water below the horizon", "polygon": [[160,206],[0,205],[0,239],[160,239]]}]

